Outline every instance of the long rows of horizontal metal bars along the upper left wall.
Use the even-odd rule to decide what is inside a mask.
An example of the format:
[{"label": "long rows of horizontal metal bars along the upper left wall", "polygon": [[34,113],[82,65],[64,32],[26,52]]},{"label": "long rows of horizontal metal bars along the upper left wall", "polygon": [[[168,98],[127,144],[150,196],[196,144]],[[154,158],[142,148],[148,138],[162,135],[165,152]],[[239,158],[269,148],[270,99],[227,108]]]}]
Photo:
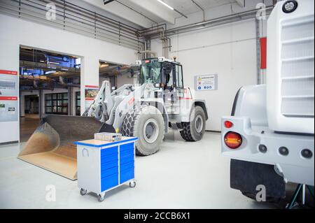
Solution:
[{"label": "long rows of horizontal metal bars along the upper left wall", "polygon": [[[51,4],[55,8],[49,8]],[[52,12],[52,9],[55,11]],[[54,16],[48,17],[51,12]],[[63,0],[0,0],[0,13],[134,50],[144,48],[144,38],[140,36],[139,29]]]}]

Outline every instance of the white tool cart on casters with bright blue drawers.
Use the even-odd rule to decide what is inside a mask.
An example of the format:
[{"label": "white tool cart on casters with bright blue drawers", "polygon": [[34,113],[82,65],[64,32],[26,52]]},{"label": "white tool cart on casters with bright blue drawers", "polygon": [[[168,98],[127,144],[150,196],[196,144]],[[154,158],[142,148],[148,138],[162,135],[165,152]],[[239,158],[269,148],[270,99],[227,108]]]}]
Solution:
[{"label": "white tool cart on casters with bright blue drawers", "polygon": [[106,142],[87,140],[76,142],[78,157],[78,187],[80,194],[87,191],[104,201],[105,193],[134,179],[134,143],[138,138],[123,137],[121,141]]}]

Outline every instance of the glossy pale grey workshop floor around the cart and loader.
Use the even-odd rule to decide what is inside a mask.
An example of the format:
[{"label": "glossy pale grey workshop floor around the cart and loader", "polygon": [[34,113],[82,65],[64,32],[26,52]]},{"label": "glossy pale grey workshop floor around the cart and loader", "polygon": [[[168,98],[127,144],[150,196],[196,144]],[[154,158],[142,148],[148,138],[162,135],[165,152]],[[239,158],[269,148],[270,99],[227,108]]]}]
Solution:
[{"label": "glossy pale grey workshop floor around the cart and loader", "polygon": [[[174,140],[175,138],[175,140]],[[137,187],[119,187],[103,203],[80,196],[76,181],[27,164],[17,155],[25,143],[0,146],[0,208],[283,208],[257,203],[229,187],[230,160],[221,156],[220,134],[188,143],[168,134],[161,150],[137,157]],[[56,201],[46,201],[54,185]]]}]

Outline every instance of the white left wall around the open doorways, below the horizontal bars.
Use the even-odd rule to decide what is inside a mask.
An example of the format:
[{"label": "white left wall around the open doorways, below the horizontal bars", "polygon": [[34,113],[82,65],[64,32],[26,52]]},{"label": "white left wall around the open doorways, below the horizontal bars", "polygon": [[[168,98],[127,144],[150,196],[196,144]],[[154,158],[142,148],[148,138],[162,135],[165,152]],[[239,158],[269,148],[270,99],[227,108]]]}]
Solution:
[{"label": "white left wall around the open doorways, below the horizontal bars", "polygon": [[[55,29],[0,14],[0,69],[18,71],[20,45],[83,57],[81,68],[81,112],[85,106],[84,86],[99,84],[99,60],[132,64],[134,50],[69,31]],[[0,143],[18,141],[19,122],[0,123]]]}]

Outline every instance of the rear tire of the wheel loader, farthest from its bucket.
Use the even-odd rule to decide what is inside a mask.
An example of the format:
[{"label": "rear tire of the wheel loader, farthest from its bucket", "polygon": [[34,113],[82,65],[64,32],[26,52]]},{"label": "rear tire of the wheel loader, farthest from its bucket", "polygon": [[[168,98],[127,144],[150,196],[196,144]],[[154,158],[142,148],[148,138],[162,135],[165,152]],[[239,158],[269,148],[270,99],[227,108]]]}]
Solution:
[{"label": "rear tire of the wheel loader, farthest from its bucket", "polygon": [[206,114],[200,106],[195,106],[190,113],[191,122],[183,122],[181,137],[190,142],[200,141],[206,129]]}]

